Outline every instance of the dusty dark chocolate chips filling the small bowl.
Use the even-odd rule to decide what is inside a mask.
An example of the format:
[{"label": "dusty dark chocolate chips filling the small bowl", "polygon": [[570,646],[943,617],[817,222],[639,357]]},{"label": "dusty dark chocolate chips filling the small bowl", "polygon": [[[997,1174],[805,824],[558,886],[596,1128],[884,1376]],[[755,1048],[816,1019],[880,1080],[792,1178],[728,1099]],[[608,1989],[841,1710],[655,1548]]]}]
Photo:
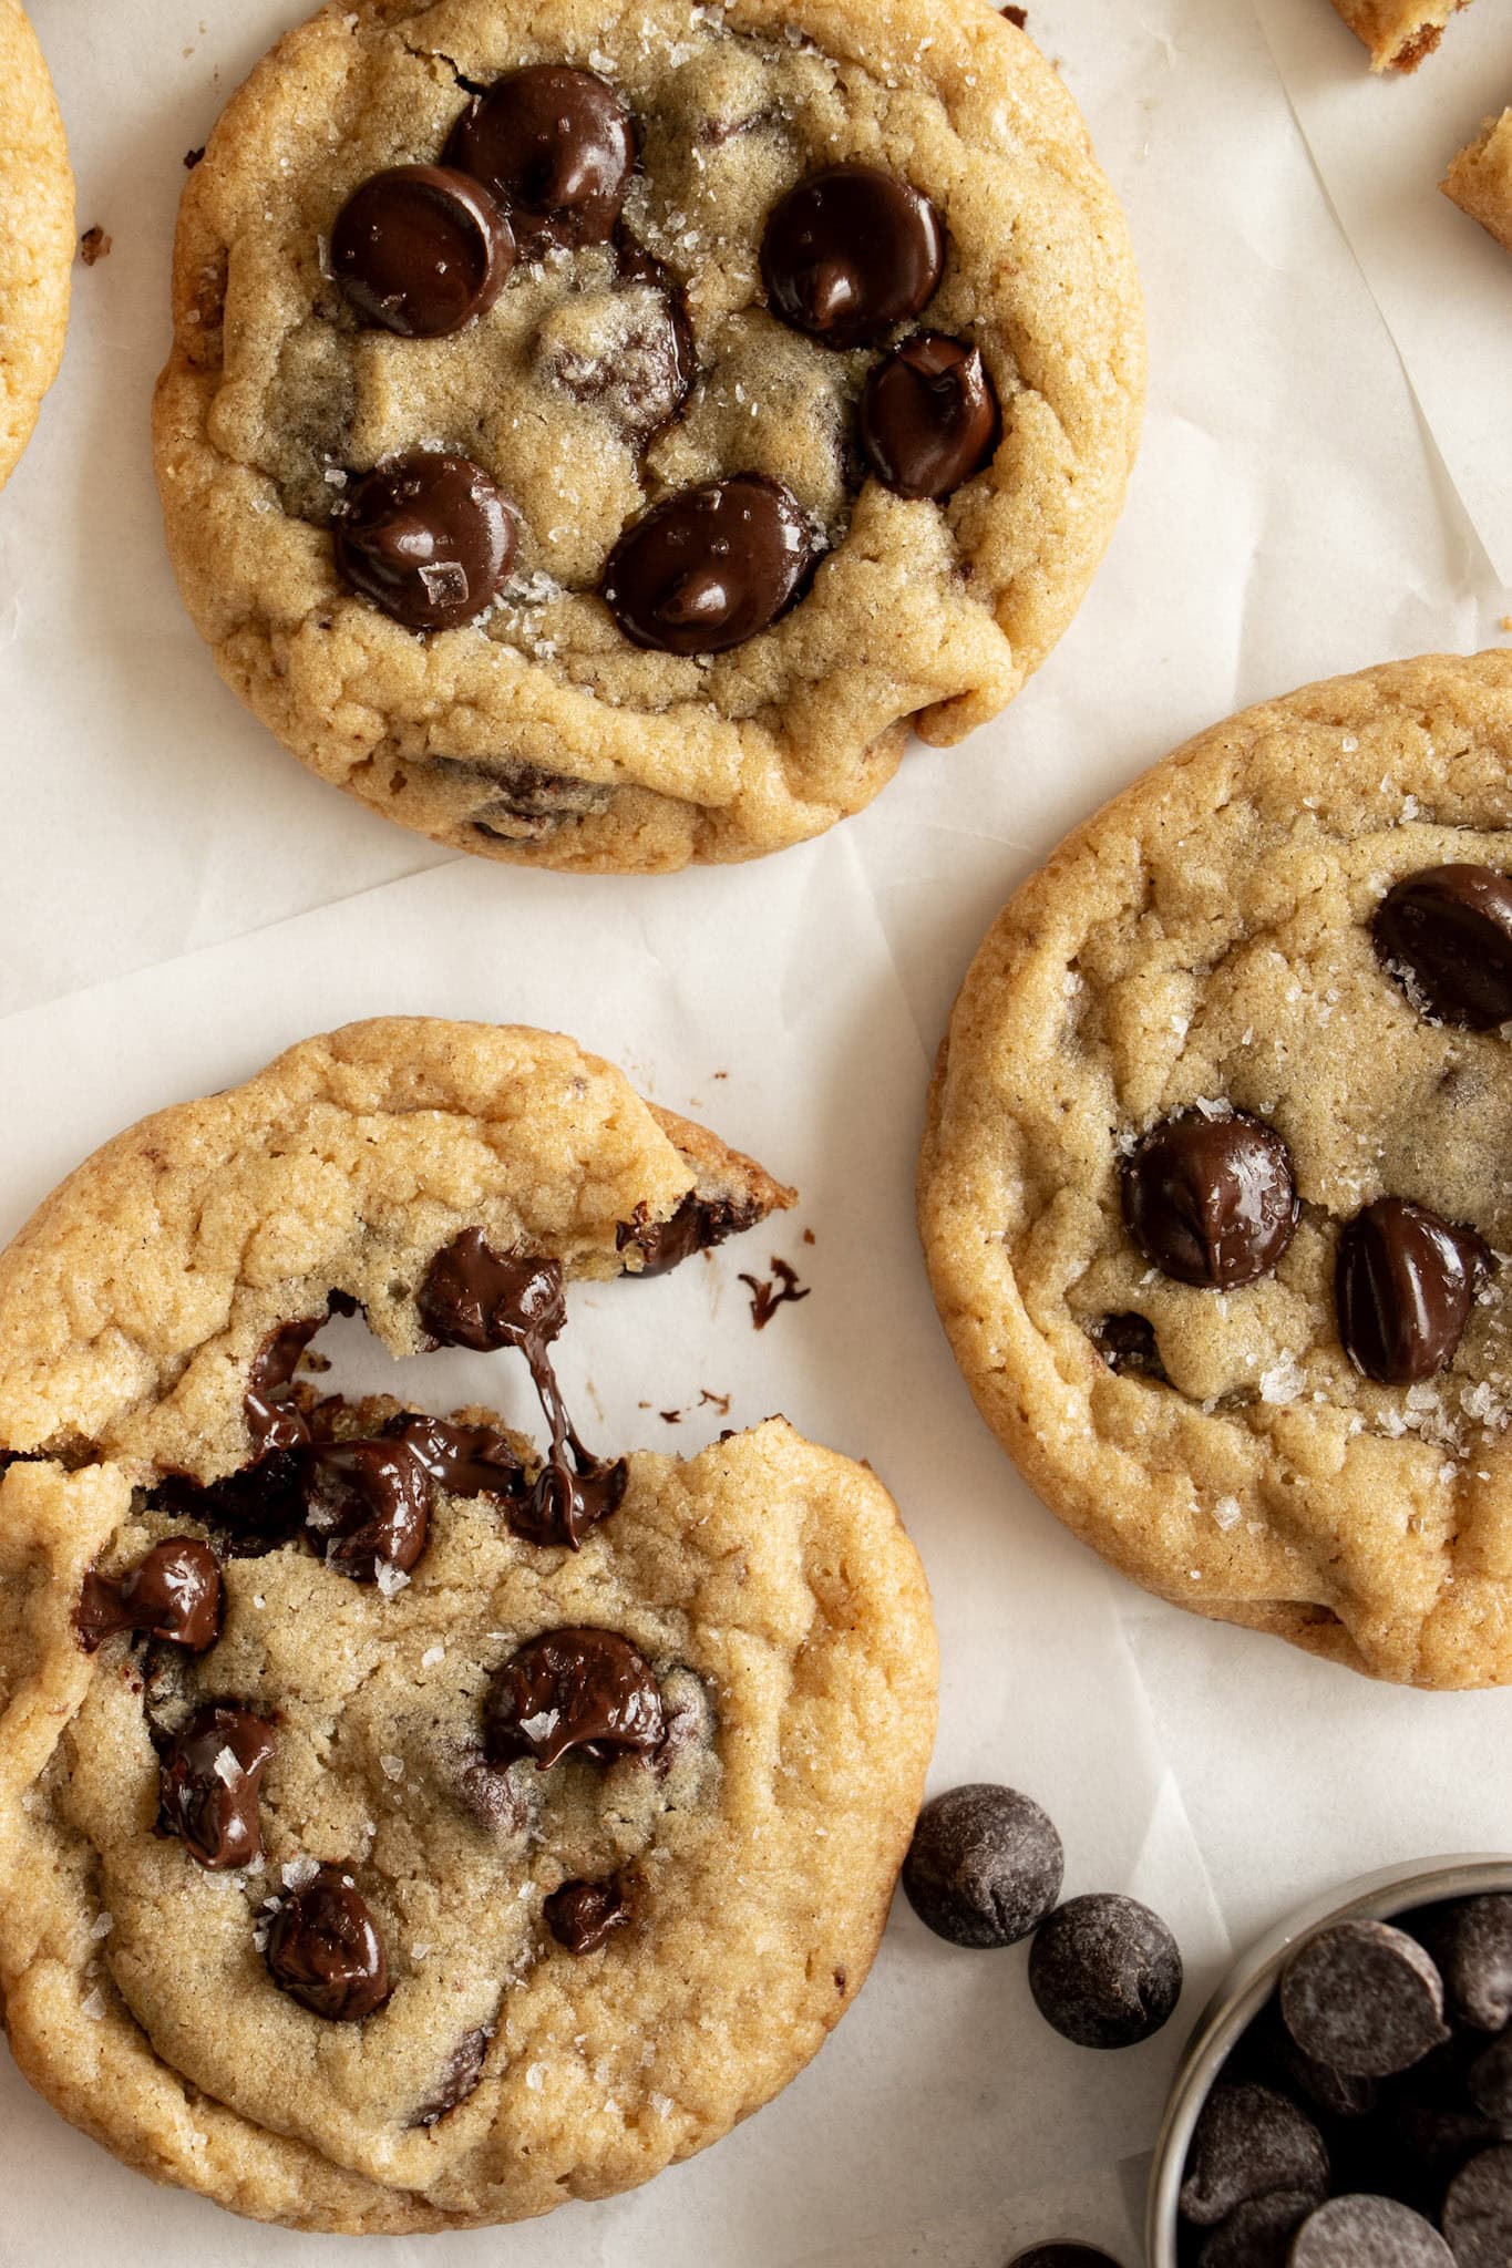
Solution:
[{"label": "dusty dark chocolate chips filling the small bowl", "polygon": [[1224,2064],[1181,2184],[1195,2268],[1507,2268],[1512,1896],[1340,1921]]}]

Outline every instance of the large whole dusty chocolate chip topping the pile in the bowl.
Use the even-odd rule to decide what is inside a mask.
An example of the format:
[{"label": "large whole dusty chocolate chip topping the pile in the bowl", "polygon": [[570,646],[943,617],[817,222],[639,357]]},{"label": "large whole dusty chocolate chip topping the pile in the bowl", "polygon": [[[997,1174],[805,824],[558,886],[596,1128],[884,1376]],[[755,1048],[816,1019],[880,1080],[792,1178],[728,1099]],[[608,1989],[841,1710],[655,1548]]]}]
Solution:
[{"label": "large whole dusty chocolate chip topping the pile in the bowl", "polygon": [[1337,1921],[1292,1955],[1281,2019],[1319,2064],[1383,2080],[1449,2039],[1444,1980],[1390,1921]]}]

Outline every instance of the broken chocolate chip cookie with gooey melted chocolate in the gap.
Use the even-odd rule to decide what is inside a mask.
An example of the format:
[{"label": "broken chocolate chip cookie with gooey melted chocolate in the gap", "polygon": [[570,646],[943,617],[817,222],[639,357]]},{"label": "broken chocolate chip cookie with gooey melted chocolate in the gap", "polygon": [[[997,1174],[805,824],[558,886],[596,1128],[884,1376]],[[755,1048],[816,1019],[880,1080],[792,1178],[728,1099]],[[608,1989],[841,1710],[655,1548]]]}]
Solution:
[{"label": "broken chocolate chip cookie with gooey melted chocolate in the gap", "polygon": [[[392,1021],[0,1254],[0,1989],[118,2157],[295,2227],[526,2218],[843,2014],[934,1730],[893,1501],[780,1417],[589,1445],[553,1368],[569,1281],[787,1202],[564,1039]],[[537,1438],[322,1388],[358,1311],[521,1363]]]}]

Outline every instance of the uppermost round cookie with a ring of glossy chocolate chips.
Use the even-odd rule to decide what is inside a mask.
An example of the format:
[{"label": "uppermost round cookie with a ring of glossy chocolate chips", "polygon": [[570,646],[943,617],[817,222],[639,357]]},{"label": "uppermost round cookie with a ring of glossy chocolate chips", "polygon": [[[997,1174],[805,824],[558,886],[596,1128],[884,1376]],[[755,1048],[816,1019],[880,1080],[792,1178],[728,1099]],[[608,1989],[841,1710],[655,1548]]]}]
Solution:
[{"label": "uppermost round cookie with a ring of glossy chocolate chips", "polygon": [[338,0],[188,179],[159,485],[222,676],[322,778],[664,871],[1018,692],[1143,356],[1086,129],[988,0]]}]

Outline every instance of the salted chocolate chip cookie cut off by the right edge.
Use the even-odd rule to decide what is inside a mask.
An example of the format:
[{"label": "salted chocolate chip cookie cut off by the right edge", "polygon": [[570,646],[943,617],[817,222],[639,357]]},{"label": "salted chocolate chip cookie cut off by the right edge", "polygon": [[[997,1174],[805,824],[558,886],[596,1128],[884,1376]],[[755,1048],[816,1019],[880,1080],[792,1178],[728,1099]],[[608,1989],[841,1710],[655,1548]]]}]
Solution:
[{"label": "salted chocolate chip cookie cut off by the right edge", "polygon": [[1161,1597],[1512,1678],[1512,655],[1315,685],[1072,835],[954,1007],[936,1302]]}]

